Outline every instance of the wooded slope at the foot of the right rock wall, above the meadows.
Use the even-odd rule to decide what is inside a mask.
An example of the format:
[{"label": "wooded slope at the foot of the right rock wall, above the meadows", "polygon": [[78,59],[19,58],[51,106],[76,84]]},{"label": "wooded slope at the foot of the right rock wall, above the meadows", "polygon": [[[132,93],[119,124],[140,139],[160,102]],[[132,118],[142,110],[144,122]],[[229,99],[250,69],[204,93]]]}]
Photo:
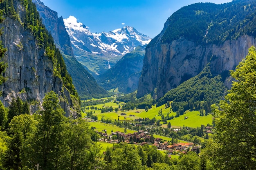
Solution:
[{"label": "wooded slope at the foot of the right rock wall, above the meadows", "polygon": [[201,73],[168,91],[158,100],[157,106],[168,105],[172,101],[171,108],[176,117],[186,110],[200,110],[200,115],[207,115],[211,112],[211,104],[218,104],[224,91],[220,75],[213,77],[208,64]]}]

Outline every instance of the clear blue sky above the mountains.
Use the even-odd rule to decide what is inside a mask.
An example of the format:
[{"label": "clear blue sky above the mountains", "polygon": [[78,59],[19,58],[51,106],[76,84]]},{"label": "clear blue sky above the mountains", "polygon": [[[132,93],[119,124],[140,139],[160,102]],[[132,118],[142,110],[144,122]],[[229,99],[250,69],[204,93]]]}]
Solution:
[{"label": "clear blue sky above the mountains", "polygon": [[58,12],[58,17],[76,17],[91,32],[108,32],[133,26],[140,33],[154,38],[172,13],[189,4],[231,0],[41,0]]}]

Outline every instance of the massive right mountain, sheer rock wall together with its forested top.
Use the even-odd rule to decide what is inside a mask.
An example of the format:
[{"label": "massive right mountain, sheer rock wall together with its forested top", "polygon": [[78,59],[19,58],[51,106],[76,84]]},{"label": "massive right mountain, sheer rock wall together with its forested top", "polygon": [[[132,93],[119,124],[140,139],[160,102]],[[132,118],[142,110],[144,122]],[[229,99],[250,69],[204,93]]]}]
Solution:
[{"label": "massive right mountain, sheer rock wall together with its forested top", "polygon": [[256,44],[255,7],[253,1],[238,0],[193,4],[174,13],[146,47],[137,97],[156,88],[159,99],[209,62],[211,73],[222,75],[224,81]]}]

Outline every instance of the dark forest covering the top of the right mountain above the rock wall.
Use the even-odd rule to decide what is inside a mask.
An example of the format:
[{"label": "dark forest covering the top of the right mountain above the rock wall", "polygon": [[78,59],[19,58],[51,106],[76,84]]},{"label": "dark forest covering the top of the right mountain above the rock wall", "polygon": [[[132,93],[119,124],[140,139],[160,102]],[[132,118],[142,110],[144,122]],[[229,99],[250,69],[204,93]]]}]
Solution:
[{"label": "dark forest covering the top of the right mountain above the rock wall", "polygon": [[[162,42],[181,37],[200,44],[223,43],[241,35],[256,37],[256,2],[236,0],[225,4],[196,3],[173,13],[165,24]],[[153,46],[160,35],[147,46]]]}]

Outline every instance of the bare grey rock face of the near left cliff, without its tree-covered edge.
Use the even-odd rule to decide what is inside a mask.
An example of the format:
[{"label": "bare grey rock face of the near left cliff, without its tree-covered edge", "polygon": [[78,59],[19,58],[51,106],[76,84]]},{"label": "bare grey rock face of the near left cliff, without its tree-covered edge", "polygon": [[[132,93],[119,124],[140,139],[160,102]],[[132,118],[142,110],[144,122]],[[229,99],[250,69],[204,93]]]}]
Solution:
[{"label": "bare grey rock face of the near left cliff, without its tree-covered edge", "polygon": [[[0,86],[1,101],[8,106],[12,97],[19,96],[22,100],[28,100],[33,105],[32,111],[35,111],[41,106],[45,94],[54,91],[59,96],[66,116],[76,117],[80,110],[79,101],[70,94],[62,78],[58,76],[58,66],[56,67],[53,61],[55,59],[47,56],[46,51],[39,47],[34,34],[24,27],[28,24],[23,22],[25,13],[29,13],[27,8],[19,0],[13,0],[13,4],[7,3],[1,4],[5,11],[5,20],[0,24],[3,28],[1,40],[3,46],[7,48],[3,60],[8,64],[4,73],[7,81]],[[28,4],[32,5],[31,1]],[[7,11],[7,6],[15,11]]]}]

